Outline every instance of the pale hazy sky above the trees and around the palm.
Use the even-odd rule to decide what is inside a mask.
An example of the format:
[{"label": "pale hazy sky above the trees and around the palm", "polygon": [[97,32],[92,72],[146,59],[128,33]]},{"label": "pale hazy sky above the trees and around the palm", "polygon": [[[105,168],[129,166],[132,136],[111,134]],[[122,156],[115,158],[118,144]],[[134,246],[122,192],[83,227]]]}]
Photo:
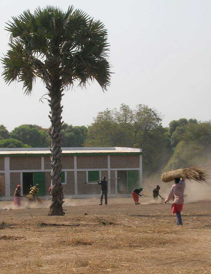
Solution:
[{"label": "pale hazy sky above the trees and around the palm", "polygon": [[[66,123],[89,125],[99,111],[121,103],[156,109],[164,116],[164,126],[181,117],[211,119],[211,1],[1,1],[1,56],[8,49],[4,26],[11,16],[58,3],[63,10],[73,4],[105,24],[115,72],[106,93],[97,83],[65,93]],[[21,124],[50,126],[48,103],[39,102],[46,93],[39,81],[29,97],[23,95],[21,83],[7,86],[2,77],[0,89],[0,124],[8,130]]]}]

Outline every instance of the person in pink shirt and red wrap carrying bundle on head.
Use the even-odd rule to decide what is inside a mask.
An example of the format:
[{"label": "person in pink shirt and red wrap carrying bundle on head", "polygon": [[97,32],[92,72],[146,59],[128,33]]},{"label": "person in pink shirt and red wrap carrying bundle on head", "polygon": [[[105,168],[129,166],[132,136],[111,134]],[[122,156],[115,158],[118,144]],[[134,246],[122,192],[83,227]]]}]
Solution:
[{"label": "person in pink shirt and red wrap carrying bundle on head", "polygon": [[172,204],[172,215],[176,214],[177,225],[182,226],[181,211],[184,203],[184,189],[185,180],[184,178],[175,178],[175,184],[172,185],[172,189],[168,194],[165,204],[172,199],[174,196],[174,203]]}]

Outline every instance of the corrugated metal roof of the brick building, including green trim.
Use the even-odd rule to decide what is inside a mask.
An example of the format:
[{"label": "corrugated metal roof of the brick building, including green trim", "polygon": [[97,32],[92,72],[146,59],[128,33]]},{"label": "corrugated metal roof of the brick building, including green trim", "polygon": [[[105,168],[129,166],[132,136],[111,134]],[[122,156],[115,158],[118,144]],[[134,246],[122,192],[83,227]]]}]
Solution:
[{"label": "corrugated metal roof of the brick building, including green trim", "polygon": [[[141,154],[140,148],[62,148],[63,155],[82,154]],[[0,156],[47,156],[50,155],[50,148],[0,148]]]}]

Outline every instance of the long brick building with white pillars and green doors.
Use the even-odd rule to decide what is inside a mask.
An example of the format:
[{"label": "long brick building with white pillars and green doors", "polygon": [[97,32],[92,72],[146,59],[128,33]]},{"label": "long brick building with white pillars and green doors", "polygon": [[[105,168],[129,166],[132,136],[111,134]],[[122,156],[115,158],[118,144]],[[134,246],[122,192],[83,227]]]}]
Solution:
[{"label": "long brick building with white pillars and green doors", "polygon": [[[51,183],[49,148],[0,148],[1,195],[12,199],[17,184],[22,195],[30,185],[39,184],[39,196],[48,196]],[[62,148],[62,184],[68,195],[99,194],[97,183],[86,181],[106,178],[109,194],[130,193],[142,185],[142,150],[139,148]]]}]

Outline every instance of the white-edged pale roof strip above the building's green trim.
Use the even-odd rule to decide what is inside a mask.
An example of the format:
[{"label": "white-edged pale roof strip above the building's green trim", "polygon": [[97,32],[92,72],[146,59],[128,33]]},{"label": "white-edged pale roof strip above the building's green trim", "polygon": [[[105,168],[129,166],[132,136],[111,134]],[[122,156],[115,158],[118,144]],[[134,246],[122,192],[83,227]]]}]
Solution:
[{"label": "white-edged pale roof strip above the building's green trim", "polygon": [[[124,148],[124,147],[80,147],[80,148],[61,148],[62,150],[116,150],[116,151],[128,151],[128,152],[142,152],[141,148]],[[50,151],[50,148],[0,148],[0,151]]]}]

